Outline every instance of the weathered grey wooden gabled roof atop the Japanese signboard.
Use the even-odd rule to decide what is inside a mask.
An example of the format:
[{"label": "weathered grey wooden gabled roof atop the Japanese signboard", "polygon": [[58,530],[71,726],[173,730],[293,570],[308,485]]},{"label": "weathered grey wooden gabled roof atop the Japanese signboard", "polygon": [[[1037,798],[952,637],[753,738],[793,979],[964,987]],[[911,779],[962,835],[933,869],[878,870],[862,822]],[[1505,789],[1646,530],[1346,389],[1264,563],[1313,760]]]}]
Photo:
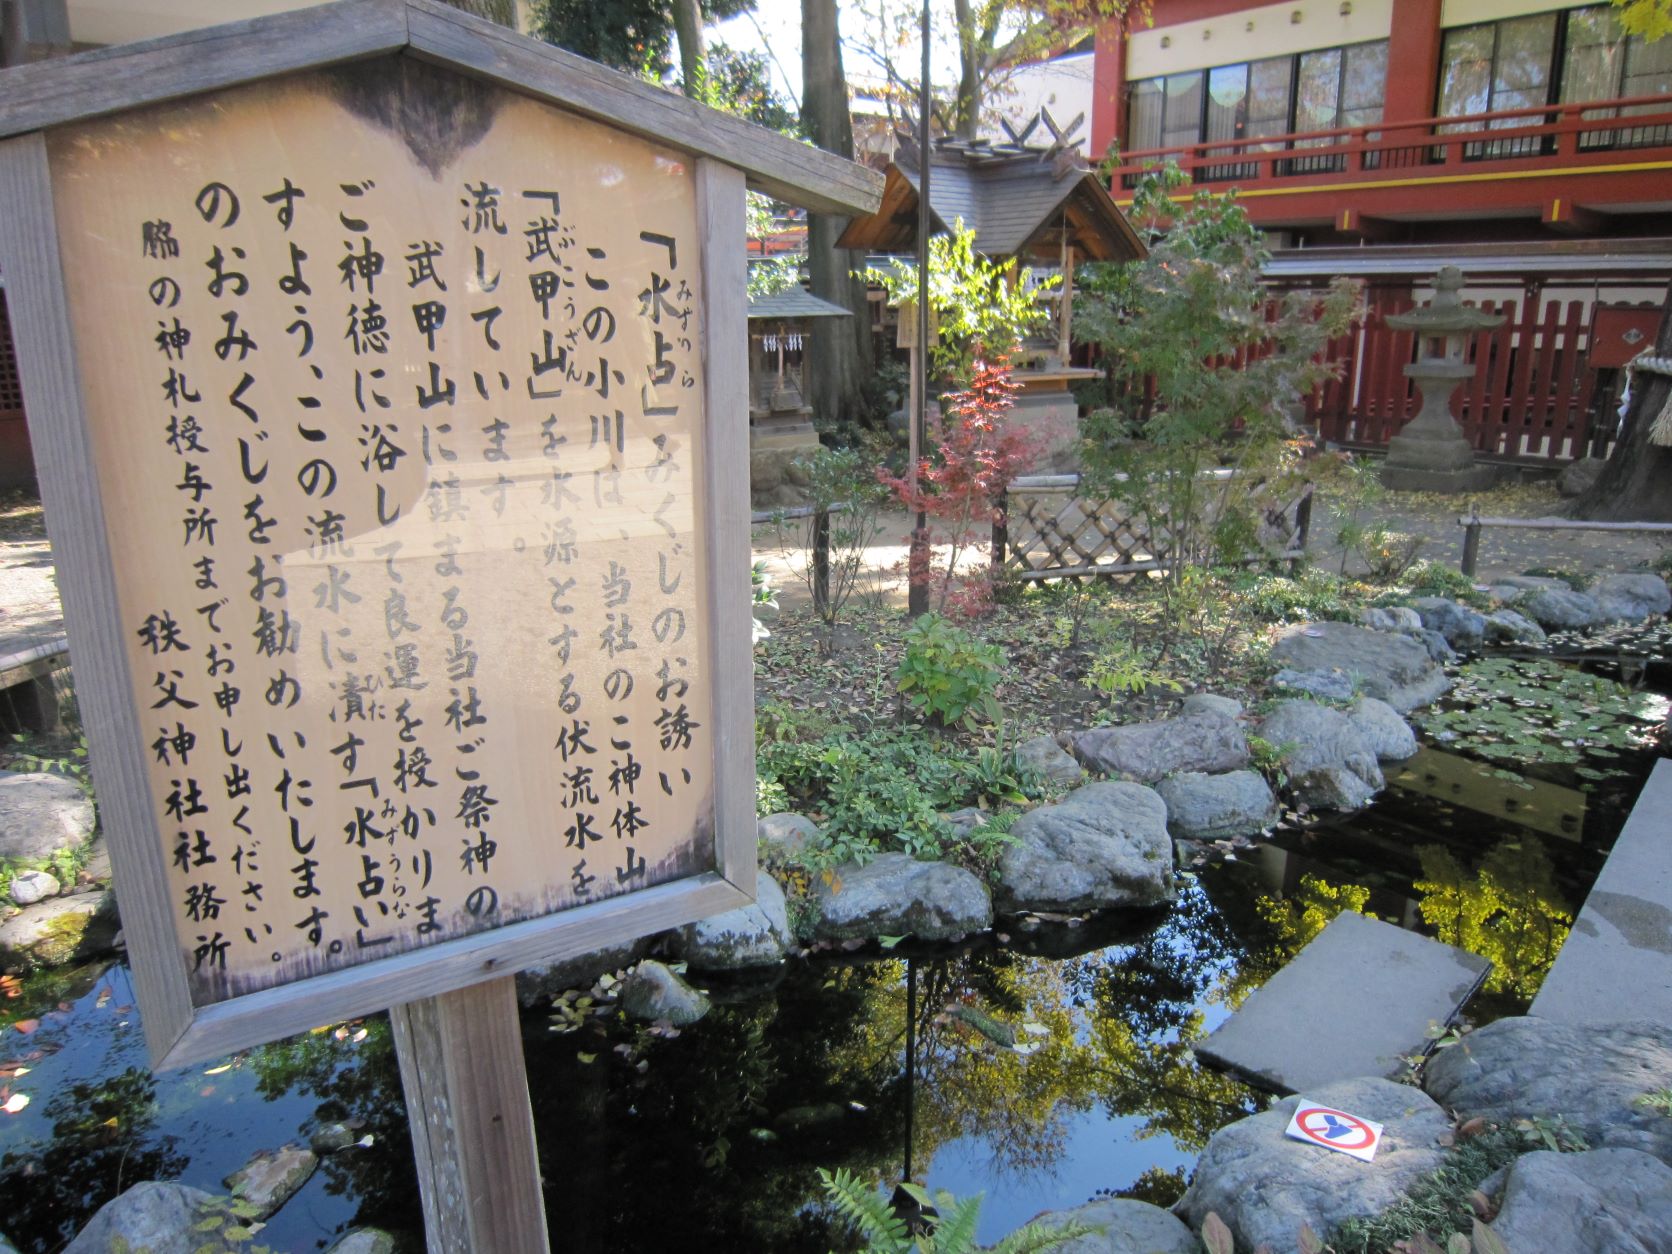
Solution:
[{"label": "weathered grey wooden gabled roof atop the Japanese signboard", "polygon": [[338,0],[18,65],[0,72],[0,137],[383,55],[416,57],[714,157],[741,169],[756,191],[818,212],[878,206],[874,171],[438,0]]}]

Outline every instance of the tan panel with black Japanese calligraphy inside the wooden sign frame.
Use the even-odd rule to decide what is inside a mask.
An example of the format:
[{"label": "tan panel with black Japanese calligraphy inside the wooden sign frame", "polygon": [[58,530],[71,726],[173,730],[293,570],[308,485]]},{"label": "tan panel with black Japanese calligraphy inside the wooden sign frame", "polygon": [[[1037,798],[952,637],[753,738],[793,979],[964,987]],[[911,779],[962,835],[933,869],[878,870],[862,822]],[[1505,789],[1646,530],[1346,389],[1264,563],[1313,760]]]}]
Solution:
[{"label": "tan panel with black Japanese calligraphy inside the wooden sign frame", "polygon": [[48,139],[197,1003],[714,861],[691,162],[366,87]]}]

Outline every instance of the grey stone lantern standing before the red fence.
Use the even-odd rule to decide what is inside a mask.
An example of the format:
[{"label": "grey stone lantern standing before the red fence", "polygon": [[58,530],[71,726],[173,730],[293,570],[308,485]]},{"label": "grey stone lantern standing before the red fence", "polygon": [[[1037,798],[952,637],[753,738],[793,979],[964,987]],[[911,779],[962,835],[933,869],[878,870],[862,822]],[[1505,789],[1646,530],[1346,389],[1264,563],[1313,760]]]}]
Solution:
[{"label": "grey stone lantern standing before the red fence", "polygon": [[1416,361],[1404,376],[1423,398],[1418,415],[1388,441],[1381,482],[1406,492],[1478,492],[1496,478],[1491,466],[1475,465],[1475,448],[1451,416],[1451,393],[1475,378],[1466,359],[1468,336],[1503,326],[1500,314],[1463,304],[1463,271],[1445,266],[1435,276],[1435,299],[1406,314],[1389,314],[1394,331],[1416,334]]}]

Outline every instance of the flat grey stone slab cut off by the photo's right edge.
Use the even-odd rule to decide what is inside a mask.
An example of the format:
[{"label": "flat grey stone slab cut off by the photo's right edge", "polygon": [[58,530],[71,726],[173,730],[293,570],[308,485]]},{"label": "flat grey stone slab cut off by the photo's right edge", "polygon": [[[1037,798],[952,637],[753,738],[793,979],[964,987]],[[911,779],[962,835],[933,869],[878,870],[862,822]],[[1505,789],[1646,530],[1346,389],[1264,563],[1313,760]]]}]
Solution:
[{"label": "flat grey stone slab cut off by the photo's right edge", "polygon": [[1637,794],[1573,931],[1533,998],[1557,1023],[1672,1023],[1672,761],[1655,762]]}]

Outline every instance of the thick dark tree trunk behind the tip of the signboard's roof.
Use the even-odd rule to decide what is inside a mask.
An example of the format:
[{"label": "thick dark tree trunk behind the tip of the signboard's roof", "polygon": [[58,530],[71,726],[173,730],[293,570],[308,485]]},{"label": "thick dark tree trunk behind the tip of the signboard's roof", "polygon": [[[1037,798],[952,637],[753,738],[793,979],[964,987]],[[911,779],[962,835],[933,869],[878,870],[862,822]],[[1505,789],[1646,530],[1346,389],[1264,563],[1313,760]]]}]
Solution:
[{"label": "thick dark tree trunk behind the tip of the signboard's roof", "polygon": [[[801,0],[801,125],[826,152],[853,159],[848,79],[841,65],[836,0]],[[824,318],[813,328],[808,396],[821,426],[863,416],[861,388],[871,375],[871,308],[864,252],[836,247],[848,219],[808,214],[808,271],[813,294],[843,306],[853,318]]]}]

